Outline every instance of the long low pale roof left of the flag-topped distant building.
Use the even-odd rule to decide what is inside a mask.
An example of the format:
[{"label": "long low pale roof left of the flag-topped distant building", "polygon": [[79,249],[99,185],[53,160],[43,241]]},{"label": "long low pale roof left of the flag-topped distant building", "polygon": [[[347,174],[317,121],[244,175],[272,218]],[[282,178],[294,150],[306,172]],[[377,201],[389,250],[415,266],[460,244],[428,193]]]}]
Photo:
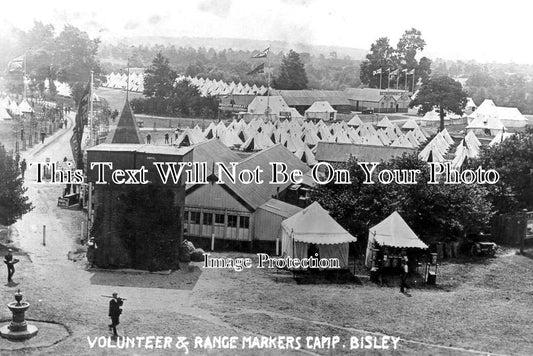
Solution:
[{"label": "long low pale roof left of the flag-topped distant building", "polygon": [[327,101],[333,106],[350,106],[346,92],[341,90],[275,90],[289,106],[311,106],[315,101]]}]

